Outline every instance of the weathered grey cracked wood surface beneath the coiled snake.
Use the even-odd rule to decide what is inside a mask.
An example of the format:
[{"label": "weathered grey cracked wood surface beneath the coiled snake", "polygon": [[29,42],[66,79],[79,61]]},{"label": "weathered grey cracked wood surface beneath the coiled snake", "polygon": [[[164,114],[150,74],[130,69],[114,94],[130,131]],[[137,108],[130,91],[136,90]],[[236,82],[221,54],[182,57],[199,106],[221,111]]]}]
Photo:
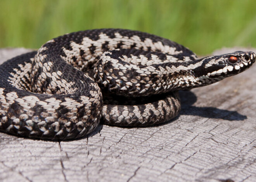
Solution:
[{"label": "weathered grey cracked wood surface beneath the coiled snake", "polygon": [[[18,50],[0,49],[0,60]],[[180,116],[161,126],[100,125],[63,142],[0,133],[0,181],[255,181],[255,77],[254,65],[180,92]]]}]

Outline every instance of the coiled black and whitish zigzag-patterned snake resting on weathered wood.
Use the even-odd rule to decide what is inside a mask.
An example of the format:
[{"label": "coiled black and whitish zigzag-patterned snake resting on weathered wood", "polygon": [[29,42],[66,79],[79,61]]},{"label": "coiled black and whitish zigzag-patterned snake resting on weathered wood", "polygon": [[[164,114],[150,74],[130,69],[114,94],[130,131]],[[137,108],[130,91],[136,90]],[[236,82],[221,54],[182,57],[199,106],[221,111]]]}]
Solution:
[{"label": "coiled black and whitish zigzag-patterned snake resting on weathered wood", "polygon": [[140,127],[178,116],[178,90],[209,85],[255,62],[236,51],[197,58],[153,34],[93,29],[54,38],[0,65],[0,131],[66,140],[104,124]]}]

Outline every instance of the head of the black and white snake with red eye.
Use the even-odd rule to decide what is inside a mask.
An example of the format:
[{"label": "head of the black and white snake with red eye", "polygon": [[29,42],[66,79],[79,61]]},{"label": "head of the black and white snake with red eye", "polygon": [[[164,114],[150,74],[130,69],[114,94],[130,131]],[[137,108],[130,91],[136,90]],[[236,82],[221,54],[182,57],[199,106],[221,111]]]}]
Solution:
[{"label": "head of the black and white snake with red eye", "polygon": [[[236,51],[234,53],[222,54],[202,58],[202,67],[199,78],[222,80],[247,70],[255,62],[256,54],[253,52]],[[201,72],[201,73],[200,73]],[[211,82],[213,83],[213,82]]]}]

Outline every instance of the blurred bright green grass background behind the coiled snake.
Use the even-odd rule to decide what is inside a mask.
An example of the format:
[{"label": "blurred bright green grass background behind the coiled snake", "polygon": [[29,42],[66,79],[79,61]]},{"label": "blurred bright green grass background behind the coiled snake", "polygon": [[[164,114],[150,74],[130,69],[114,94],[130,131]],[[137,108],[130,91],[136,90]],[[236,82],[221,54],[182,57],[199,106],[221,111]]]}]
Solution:
[{"label": "blurred bright green grass background behind the coiled snake", "polygon": [[255,0],[0,0],[0,47],[39,48],[62,34],[124,28],[197,54],[256,47]]}]

